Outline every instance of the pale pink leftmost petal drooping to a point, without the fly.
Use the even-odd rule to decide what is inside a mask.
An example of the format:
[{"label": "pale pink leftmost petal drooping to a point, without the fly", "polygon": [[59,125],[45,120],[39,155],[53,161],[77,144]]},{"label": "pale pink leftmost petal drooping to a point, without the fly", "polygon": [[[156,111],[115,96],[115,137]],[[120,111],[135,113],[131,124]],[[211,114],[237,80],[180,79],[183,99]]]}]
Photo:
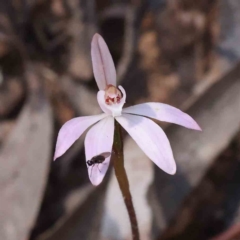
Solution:
[{"label": "pale pink leftmost petal drooping to a point, without the fly", "polygon": [[77,117],[67,121],[58,133],[54,160],[62,156],[88,127],[106,116],[106,114],[100,114],[88,117]]}]

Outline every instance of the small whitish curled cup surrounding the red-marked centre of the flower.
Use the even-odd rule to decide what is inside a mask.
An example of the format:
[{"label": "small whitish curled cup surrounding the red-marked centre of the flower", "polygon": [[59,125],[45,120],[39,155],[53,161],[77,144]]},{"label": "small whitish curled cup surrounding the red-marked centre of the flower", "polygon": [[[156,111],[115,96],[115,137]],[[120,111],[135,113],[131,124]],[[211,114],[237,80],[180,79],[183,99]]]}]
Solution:
[{"label": "small whitish curled cup surrounding the red-marked centre of the flower", "polygon": [[123,105],[126,102],[126,92],[122,86],[118,86],[118,88],[121,90],[123,97],[120,101],[120,103],[116,103],[113,105],[108,105],[105,102],[105,91],[100,90],[97,94],[97,100],[100,108],[103,110],[103,112],[107,114],[111,114],[113,117],[120,116],[122,114],[122,108]]}]

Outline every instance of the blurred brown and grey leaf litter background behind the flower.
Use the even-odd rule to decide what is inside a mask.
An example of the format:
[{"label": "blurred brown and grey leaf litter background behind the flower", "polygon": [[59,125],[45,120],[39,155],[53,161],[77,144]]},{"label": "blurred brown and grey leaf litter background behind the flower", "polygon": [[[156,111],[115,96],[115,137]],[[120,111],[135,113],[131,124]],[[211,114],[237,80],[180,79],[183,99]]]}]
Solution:
[{"label": "blurred brown and grey leaf litter background behind the flower", "polygon": [[0,240],[131,239],[112,169],[90,184],[84,137],[52,161],[59,128],[101,112],[96,32],[127,106],[168,103],[203,129],[159,123],[174,176],[125,134],[141,239],[240,239],[239,0],[0,0]]}]

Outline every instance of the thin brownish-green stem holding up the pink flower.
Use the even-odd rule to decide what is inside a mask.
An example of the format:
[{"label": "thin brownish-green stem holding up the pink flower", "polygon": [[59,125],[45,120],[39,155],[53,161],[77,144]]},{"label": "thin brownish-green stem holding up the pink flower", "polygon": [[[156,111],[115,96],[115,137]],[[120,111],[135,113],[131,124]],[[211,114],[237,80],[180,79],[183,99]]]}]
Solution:
[{"label": "thin brownish-green stem holding up the pink flower", "polygon": [[133,207],[129,182],[124,168],[122,129],[117,121],[115,121],[113,150],[113,167],[128,211],[133,240],[140,240],[136,213]]}]

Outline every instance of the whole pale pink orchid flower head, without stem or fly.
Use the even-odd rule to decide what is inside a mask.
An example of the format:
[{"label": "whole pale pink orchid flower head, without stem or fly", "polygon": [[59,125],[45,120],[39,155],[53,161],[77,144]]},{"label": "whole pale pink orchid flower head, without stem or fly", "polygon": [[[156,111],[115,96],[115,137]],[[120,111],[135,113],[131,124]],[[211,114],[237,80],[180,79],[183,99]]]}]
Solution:
[{"label": "whole pale pink orchid flower head, without stem or fly", "polygon": [[[59,131],[54,160],[62,156],[72,144],[91,127],[85,138],[86,161],[103,153],[112,152],[114,119],[129,133],[142,151],[163,171],[176,172],[172,149],[167,136],[154,121],[166,121],[186,128],[201,130],[186,113],[163,103],[143,103],[123,108],[126,92],[116,85],[116,70],[109,49],[99,34],[95,34],[91,45],[93,72],[99,88],[97,100],[104,113],[77,117],[66,122]],[[102,163],[88,166],[93,185],[102,182],[109,163],[107,157]]]}]

